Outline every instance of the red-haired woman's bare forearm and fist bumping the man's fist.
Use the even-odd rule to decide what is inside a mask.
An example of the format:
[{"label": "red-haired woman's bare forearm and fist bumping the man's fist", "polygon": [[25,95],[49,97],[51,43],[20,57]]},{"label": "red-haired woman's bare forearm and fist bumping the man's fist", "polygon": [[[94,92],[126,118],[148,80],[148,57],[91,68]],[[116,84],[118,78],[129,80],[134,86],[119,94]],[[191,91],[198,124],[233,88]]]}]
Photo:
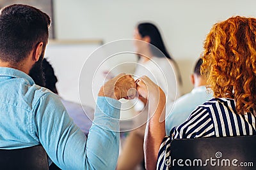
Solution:
[{"label": "red-haired woman's bare forearm and fist bumping the man's fist", "polygon": [[144,155],[146,169],[156,169],[157,154],[161,142],[165,136],[165,95],[163,90],[143,76],[136,81],[138,93],[144,99],[148,99],[148,115],[144,139]]}]

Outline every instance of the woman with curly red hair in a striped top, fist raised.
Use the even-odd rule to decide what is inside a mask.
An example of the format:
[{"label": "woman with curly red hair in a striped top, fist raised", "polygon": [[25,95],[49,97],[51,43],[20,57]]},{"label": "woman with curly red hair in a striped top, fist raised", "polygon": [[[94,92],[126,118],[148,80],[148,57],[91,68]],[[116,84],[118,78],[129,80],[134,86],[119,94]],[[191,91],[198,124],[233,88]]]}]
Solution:
[{"label": "woman with curly red hair in a striped top, fist raised", "polygon": [[[201,72],[214,98],[198,106],[186,122],[170,131],[170,136],[159,134],[164,131],[164,122],[159,121],[164,104],[150,101],[152,81],[141,78],[138,83],[139,93],[149,97],[155,107],[146,132],[147,169],[169,168],[164,163],[170,160],[172,139],[256,134],[256,19],[237,16],[215,24],[205,40],[202,59]],[[163,99],[161,90],[158,96]]]}]

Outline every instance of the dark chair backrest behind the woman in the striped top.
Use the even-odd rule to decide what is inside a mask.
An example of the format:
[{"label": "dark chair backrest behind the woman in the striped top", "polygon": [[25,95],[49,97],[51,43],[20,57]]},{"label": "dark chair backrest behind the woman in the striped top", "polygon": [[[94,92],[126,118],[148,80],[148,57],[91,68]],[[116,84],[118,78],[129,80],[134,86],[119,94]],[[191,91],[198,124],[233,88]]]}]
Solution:
[{"label": "dark chair backrest behind the woman in the striped top", "polygon": [[174,139],[170,169],[256,169],[256,136]]}]

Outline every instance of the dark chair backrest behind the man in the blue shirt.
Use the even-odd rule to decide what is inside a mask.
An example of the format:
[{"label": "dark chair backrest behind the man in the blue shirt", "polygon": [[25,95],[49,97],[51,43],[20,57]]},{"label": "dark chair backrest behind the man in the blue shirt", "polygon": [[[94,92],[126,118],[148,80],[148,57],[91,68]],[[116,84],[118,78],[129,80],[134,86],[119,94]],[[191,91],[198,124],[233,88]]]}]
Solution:
[{"label": "dark chair backrest behind the man in the blue shirt", "polygon": [[48,169],[47,153],[42,145],[15,150],[0,150],[0,169]]}]

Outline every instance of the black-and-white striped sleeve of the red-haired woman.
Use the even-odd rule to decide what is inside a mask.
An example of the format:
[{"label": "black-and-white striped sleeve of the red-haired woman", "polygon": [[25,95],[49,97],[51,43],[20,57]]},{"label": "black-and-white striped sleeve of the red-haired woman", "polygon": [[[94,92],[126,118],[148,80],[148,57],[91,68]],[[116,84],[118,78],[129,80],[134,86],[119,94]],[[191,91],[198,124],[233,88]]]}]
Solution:
[{"label": "black-and-white striped sleeve of the red-haired woman", "polygon": [[170,167],[170,145],[172,139],[206,138],[214,137],[214,125],[209,112],[205,108],[198,107],[189,118],[178,127],[173,127],[169,136],[165,136],[159,148],[157,157],[157,169]]}]

